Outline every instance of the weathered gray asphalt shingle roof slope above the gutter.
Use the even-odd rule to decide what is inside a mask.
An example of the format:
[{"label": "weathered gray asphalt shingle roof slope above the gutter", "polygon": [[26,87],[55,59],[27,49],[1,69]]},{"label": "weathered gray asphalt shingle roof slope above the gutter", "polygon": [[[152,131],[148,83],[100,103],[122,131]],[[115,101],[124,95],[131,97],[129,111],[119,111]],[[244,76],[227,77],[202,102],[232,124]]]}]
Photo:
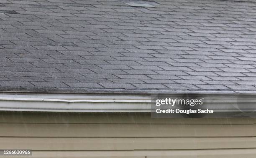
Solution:
[{"label": "weathered gray asphalt shingle roof slope above the gutter", "polygon": [[256,2],[1,0],[0,65],[2,91],[255,93]]}]

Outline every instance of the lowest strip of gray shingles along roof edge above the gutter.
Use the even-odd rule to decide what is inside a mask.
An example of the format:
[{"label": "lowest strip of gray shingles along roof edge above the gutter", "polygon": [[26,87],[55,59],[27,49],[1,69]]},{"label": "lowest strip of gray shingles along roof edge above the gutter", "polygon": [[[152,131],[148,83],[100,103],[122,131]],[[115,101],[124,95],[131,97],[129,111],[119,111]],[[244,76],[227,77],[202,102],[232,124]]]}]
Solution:
[{"label": "lowest strip of gray shingles along roof edge above the gutter", "polygon": [[200,89],[122,89],[122,88],[25,88],[25,87],[1,87],[0,93],[46,93],[46,94],[151,94],[151,93],[215,93],[215,94],[256,94],[256,90],[200,90]]}]

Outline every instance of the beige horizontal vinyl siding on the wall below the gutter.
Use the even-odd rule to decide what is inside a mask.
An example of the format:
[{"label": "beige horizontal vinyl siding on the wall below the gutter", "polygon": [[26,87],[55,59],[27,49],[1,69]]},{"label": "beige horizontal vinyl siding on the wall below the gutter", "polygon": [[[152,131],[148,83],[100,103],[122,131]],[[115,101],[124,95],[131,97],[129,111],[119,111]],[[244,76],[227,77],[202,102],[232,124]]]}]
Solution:
[{"label": "beige horizontal vinyl siding on the wall below the gutter", "polygon": [[153,119],[146,113],[1,112],[0,149],[31,149],[35,158],[255,158],[255,123]]}]

